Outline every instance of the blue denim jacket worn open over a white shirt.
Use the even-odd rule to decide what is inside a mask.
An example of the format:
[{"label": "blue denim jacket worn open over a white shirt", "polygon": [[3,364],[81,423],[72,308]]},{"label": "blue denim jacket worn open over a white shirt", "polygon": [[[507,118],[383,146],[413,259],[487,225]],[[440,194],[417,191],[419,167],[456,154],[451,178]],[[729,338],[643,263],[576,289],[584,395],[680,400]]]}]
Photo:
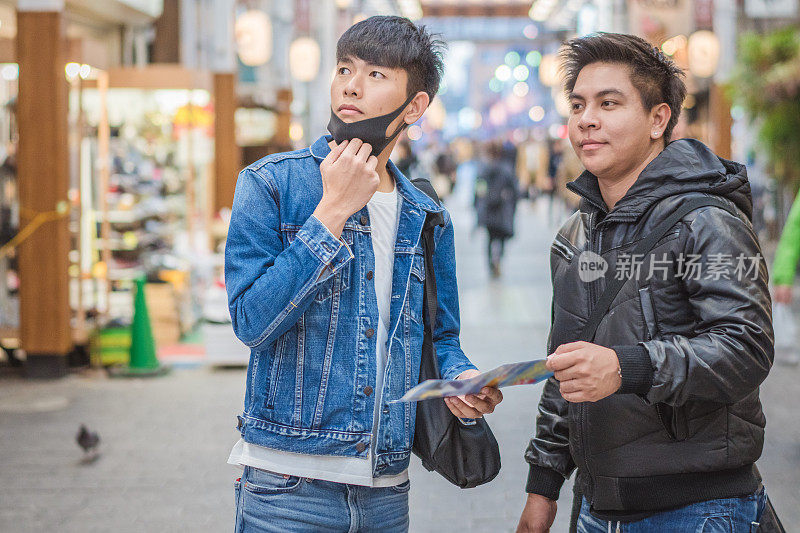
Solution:
[{"label": "blue denim jacket worn open over a white shirt", "polygon": [[[239,430],[250,443],[296,453],[367,457],[376,394],[378,305],[369,212],[340,239],[311,216],[322,198],[319,165],[330,137],[274,154],[239,174],[225,247],[233,329],[251,348]],[[416,385],[423,340],[426,213],[440,212],[391,162],[400,206],[388,362],[375,475],[408,467],[416,404],[389,403]],[[435,231],[434,342],[444,378],[475,368],[459,344],[453,226]]]}]

